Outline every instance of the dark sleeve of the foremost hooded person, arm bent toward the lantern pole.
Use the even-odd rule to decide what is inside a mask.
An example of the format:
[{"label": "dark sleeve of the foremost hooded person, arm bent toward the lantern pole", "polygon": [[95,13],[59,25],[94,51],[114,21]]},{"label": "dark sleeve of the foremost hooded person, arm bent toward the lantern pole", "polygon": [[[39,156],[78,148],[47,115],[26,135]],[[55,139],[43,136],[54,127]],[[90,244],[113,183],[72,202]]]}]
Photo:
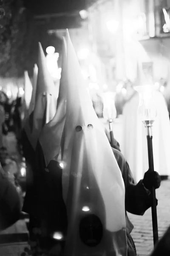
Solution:
[{"label": "dark sleeve of the foremost hooded person, arm bent toward the lantern pole", "polygon": [[135,184],[125,157],[115,149],[113,149],[113,153],[116,157],[125,183],[125,209],[127,212],[136,215],[143,215],[151,206],[150,192],[144,188],[142,180]]}]

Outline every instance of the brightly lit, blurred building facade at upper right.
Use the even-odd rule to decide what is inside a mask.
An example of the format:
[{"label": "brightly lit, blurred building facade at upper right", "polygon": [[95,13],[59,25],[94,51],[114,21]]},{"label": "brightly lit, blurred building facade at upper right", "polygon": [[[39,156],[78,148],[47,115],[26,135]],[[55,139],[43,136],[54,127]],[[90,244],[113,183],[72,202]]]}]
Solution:
[{"label": "brightly lit, blurred building facade at upper right", "polygon": [[134,81],[137,62],[154,82],[169,80],[170,1],[97,0],[81,16],[69,32],[94,87],[115,91],[119,81]]}]

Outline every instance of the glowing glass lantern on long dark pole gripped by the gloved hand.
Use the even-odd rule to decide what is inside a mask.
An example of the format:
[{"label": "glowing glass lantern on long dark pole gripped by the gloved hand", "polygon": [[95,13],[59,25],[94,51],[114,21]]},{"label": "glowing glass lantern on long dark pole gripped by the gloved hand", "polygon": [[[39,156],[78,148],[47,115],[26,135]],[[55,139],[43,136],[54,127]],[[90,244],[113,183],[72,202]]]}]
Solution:
[{"label": "glowing glass lantern on long dark pole gripped by the gloved hand", "polygon": [[[157,87],[146,85],[136,86],[134,89],[139,93],[139,116],[146,127],[147,134],[147,151],[149,160],[149,170],[154,172],[153,163],[153,145],[152,145],[152,127],[156,118],[156,105],[154,101],[154,93]],[[155,189],[151,190],[152,195],[152,225],[153,225],[153,244],[155,245],[158,241],[158,221],[156,212],[156,193]]]}]

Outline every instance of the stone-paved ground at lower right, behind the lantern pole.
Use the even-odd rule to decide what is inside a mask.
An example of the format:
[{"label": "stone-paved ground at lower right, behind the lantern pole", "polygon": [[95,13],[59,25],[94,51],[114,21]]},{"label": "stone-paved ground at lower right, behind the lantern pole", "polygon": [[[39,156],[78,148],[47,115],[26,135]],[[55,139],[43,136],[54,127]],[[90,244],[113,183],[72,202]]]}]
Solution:
[{"label": "stone-paved ground at lower right, behind the lantern pole", "polygon": [[[163,180],[161,187],[156,190],[158,199],[157,215],[159,239],[170,226],[170,179]],[[153,250],[153,232],[151,209],[148,209],[143,216],[128,213],[130,221],[134,225],[131,233],[136,244],[138,256],[147,256]]]}]

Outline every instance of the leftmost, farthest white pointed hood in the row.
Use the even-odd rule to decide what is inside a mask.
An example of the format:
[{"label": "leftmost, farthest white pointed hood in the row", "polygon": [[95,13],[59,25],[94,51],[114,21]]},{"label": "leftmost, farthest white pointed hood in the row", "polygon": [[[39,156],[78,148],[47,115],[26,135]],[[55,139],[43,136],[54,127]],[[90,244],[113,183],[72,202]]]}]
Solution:
[{"label": "leftmost, farthest white pointed hood in the row", "polygon": [[23,99],[23,105],[22,105],[22,126],[24,126],[24,123],[26,119],[29,116],[29,107],[31,102],[31,96],[32,96],[32,84],[28,76],[28,71],[24,72],[24,99]]}]

